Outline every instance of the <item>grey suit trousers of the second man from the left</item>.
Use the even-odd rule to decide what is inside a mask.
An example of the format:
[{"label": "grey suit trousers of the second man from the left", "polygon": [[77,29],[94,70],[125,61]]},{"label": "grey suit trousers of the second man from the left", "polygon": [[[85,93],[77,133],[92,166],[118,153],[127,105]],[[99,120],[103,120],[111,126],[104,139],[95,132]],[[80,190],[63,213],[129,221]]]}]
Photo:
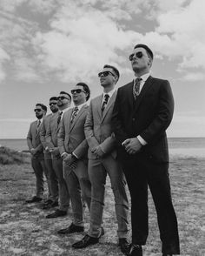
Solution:
[{"label": "grey suit trousers of the second man from the left", "polygon": [[58,182],[56,177],[56,172],[53,169],[52,159],[47,158],[46,154],[44,154],[45,166],[47,170],[47,182],[49,188],[49,196],[48,199],[52,200],[53,202],[58,201]]}]

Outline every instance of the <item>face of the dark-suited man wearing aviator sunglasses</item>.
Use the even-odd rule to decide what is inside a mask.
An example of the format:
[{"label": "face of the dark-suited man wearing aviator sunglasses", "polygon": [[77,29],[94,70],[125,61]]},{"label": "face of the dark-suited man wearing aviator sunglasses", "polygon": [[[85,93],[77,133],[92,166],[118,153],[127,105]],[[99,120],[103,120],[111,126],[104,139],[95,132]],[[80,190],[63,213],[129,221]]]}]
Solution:
[{"label": "face of the dark-suited man wearing aviator sunglasses", "polygon": [[147,51],[142,47],[134,49],[132,54],[129,56],[129,60],[132,64],[133,71],[136,73],[146,73],[151,67],[151,58]]}]

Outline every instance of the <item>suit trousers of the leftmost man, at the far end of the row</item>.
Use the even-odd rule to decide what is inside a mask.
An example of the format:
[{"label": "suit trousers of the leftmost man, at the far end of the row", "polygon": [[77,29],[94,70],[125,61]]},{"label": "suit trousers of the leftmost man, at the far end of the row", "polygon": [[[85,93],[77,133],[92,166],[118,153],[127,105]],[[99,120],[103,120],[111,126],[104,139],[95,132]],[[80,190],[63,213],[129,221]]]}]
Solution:
[{"label": "suit trousers of the leftmost man, at the far end of the row", "polygon": [[31,158],[31,166],[36,175],[36,197],[43,196],[43,172],[45,173],[45,163],[43,158]]}]

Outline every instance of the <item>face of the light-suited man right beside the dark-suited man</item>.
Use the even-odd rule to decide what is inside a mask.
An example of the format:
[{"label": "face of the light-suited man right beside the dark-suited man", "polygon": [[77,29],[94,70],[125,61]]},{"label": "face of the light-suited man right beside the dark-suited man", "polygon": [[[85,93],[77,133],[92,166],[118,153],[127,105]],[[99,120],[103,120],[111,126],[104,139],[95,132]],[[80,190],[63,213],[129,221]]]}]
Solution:
[{"label": "face of the light-suited man right beside the dark-suited man", "polygon": [[98,74],[98,77],[100,77],[102,87],[116,84],[117,81],[116,74],[111,68],[103,68],[103,70]]}]

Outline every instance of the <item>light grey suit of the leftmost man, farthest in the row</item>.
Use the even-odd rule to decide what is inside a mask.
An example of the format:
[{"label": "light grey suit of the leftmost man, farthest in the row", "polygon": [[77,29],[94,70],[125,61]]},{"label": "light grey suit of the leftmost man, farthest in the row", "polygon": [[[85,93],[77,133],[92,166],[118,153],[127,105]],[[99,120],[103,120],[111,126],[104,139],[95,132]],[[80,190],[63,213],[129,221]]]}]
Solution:
[{"label": "light grey suit of the leftmost man, farthest in the row", "polygon": [[45,171],[43,145],[41,144],[40,127],[37,129],[37,120],[30,124],[30,130],[27,135],[27,144],[29,149],[36,149],[36,154],[31,156],[31,165],[36,175],[36,197],[43,196],[43,172]]}]

